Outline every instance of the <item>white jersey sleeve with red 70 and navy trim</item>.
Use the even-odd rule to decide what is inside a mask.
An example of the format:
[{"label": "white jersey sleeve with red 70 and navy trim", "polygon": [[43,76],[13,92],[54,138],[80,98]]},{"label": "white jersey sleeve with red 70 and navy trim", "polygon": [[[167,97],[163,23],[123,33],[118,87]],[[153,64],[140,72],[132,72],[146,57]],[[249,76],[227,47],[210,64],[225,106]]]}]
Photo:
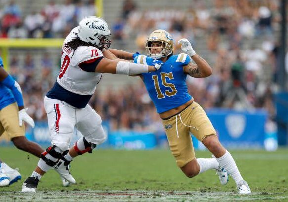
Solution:
[{"label": "white jersey sleeve with red 70 and navy trim", "polygon": [[78,67],[86,72],[94,72],[99,62],[104,58],[103,53],[96,47],[81,47],[77,52]]}]

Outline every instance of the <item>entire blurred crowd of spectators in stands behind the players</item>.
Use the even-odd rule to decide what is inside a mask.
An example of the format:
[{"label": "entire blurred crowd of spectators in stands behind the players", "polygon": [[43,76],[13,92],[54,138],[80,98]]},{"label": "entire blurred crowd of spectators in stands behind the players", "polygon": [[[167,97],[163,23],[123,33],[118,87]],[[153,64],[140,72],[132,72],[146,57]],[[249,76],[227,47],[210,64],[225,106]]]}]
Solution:
[{"label": "entire blurred crowd of spectators in stands behind the players", "polygon": [[[50,0],[40,13],[31,12],[23,16],[13,0],[2,1],[6,3],[0,7],[0,37],[8,38],[65,37],[80,19],[97,12],[94,0],[65,0],[61,5]],[[124,0],[119,18],[110,25],[112,37],[121,41],[135,39],[138,51],[143,53],[144,42],[155,29],[171,33],[175,53],[181,51],[177,41],[188,38],[196,52],[209,61],[213,69],[209,78],[188,76],[189,92],[195,101],[206,109],[265,108],[269,118],[273,119],[272,95],[277,91],[278,43],[275,33],[279,29],[279,1],[206,2],[193,0],[191,6],[183,11],[172,7],[143,10],[137,1]],[[206,54],[202,55],[204,52]],[[16,56],[10,58],[10,73],[21,85],[28,112],[35,120],[46,119],[43,96],[53,85],[58,71],[59,65],[51,63],[48,53],[41,58],[41,68],[36,67],[34,57],[29,53],[21,64]],[[157,132],[162,129],[141,81],[124,89],[96,92],[90,104],[104,121],[109,121],[112,130]]]}]

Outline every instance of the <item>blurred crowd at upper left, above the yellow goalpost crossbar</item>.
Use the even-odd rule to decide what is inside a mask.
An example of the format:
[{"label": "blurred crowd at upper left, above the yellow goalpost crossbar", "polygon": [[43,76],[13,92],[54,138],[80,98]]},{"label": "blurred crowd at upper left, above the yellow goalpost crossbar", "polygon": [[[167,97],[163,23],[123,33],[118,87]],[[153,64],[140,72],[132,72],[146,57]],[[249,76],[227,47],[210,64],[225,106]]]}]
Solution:
[{"label": "blurred crowd at upper left, above the yellow goalpost crossbar", "polygon": [[2,38],[63,38],[79,21],[94,16],[94,0],[49,0],[40,12],[31,10],[23,16],[14,0],[0,1],[0,37]]}]

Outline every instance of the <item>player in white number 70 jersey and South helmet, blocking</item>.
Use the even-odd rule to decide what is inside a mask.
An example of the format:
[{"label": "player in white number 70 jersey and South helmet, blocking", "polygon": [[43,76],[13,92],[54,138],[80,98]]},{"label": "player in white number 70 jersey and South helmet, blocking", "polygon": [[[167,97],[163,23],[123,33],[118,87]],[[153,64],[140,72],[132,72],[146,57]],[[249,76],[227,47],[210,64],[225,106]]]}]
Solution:
[{"label": "player in white number 70 jersey and South helmet, blocking", "polygon": [[[137,75],[160,68],[161,63],[149,66],[105,58],[102,51],[109,48],[109,37],[107,23],[94,16],[82,19],[66,37],[59,76],[44,99],[51,146],[41,154],[32,175],[24,181],[22,192],[35,193],[40,178],[52,167],[65,180],[75,183],[69,163],[106,140],[101,117],[88,105],[102,73]],[[74,126],[83,137],[69,150]]]}]

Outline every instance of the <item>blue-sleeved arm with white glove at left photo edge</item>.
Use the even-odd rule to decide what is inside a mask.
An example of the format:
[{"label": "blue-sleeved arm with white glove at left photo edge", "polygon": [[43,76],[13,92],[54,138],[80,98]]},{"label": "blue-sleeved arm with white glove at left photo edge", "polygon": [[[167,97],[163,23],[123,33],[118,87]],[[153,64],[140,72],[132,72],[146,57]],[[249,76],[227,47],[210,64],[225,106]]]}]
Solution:
[{"label": "blue-sleeved arm with white glove at left photo edge", "polygon": [[19,125],[22,126],[23,121],[27,122],[31,127],[34,127],[34,121],[33,119],[26,113],[26,110],[24,109],[24,102],[22,97],[22,91],[20,85],[4,70],[3,68],[3,61],[0,57],[0,82],[8,87],[12,94],[14,95],[14,98],[18,104],[19,111],[18,111],[18,117],[19,117]]}]

